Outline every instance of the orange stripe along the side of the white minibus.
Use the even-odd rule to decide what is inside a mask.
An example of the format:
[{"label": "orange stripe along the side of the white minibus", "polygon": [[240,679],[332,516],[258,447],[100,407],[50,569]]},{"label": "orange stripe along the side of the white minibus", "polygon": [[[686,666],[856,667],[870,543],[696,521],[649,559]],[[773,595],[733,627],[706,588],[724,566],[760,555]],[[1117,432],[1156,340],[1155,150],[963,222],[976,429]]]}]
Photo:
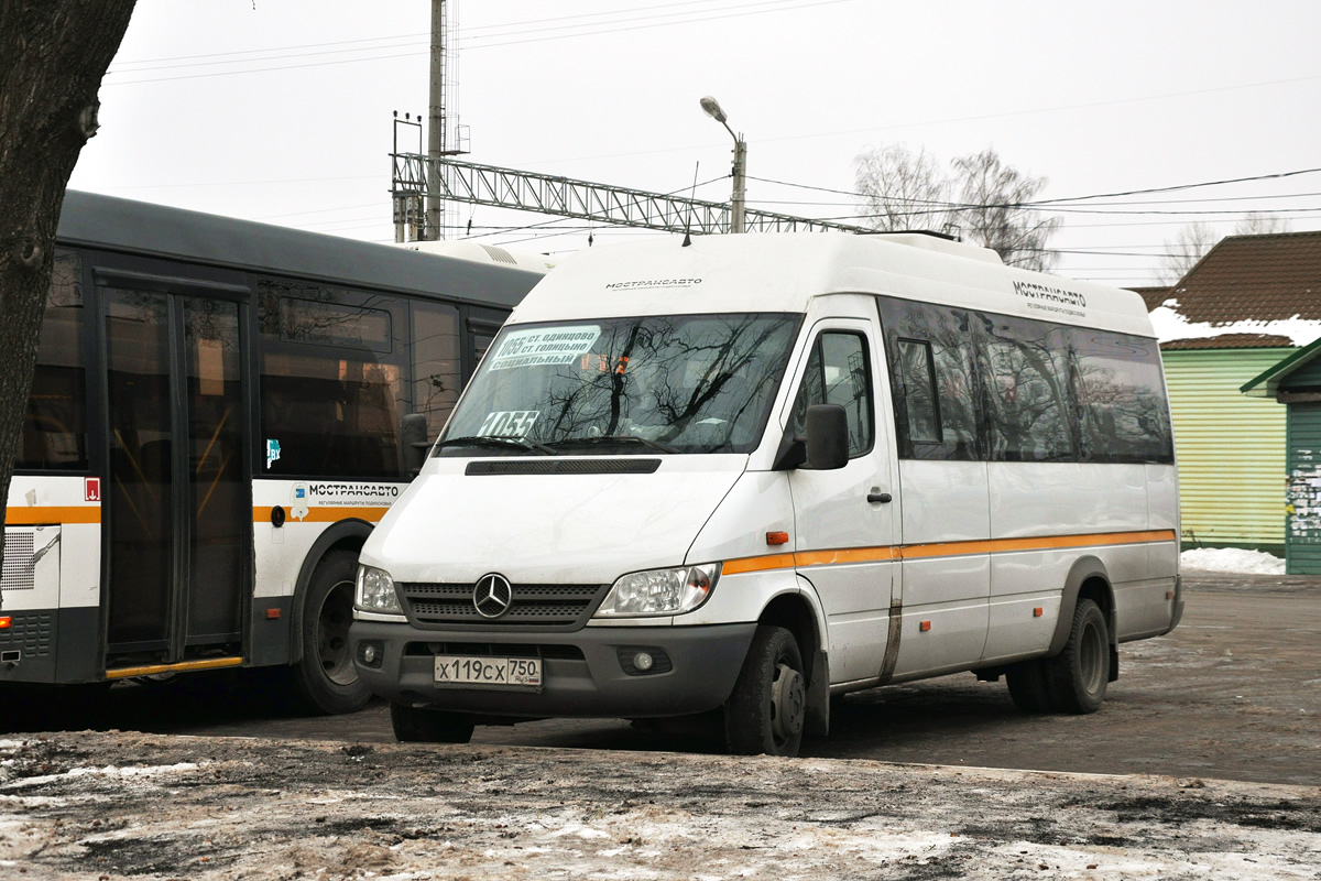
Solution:
[{"label": "orange stripe along the side of the white minibus", "polygon": [[725,575],[793,569],[811,565],[839,565],[844,563],[875,563],[877,560],[913,560],[970,553],[1008,553],[1013,551],[1053,551],[1057,548],[1085,548],[1107,544],[1145,544],[1173,542],[1174,530],[1145,530],[1139,532],[1090,532],[1081,535],[1050,535],[1029,539],[992,539],[972,542],[937,542],[906,547],[835,548],[830,551],[802,551],[798,553],[770,553],[766,556],[728,560],[721,569]]}]

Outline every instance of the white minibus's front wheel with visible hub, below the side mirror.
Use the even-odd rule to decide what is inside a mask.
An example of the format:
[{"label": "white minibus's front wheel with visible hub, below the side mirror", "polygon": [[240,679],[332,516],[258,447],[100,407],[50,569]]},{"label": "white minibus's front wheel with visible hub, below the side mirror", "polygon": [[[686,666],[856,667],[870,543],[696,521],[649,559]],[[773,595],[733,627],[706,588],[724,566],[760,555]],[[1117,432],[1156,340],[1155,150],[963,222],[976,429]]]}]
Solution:
[{"label": "white minibus's front wheel with visible hub, below the side mirror", "polygon": [[734,756],[797,756],[807,716],[807,678],[794,634],[761,625],[725,701],[725,742]]}]

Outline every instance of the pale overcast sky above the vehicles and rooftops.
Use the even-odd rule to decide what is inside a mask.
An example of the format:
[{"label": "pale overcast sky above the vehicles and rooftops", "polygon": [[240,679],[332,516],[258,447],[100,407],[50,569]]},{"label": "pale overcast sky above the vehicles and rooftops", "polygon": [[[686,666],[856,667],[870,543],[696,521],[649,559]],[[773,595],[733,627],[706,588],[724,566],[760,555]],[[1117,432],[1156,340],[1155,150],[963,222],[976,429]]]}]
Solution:
[{"label": "pale overcast sky above the vehicles and rooftops", "polygon": [[[748,140],[749,205],[807,217],[859,214],[853,160],[892,143],[942,161],[993,147],[1046,198],[1321,169],[1316,0],[449,5],[474,162],[658,192],[696,176],[723,201],[711,94]],[[427,0],[139,0],[70,185],[392,240],[391,112],[427,112],[429,28]],[[1192,221],[1321,229],[1321,172],[1082,207],[1052,239],[1057,272],[1153,284]],[[458,214],[493,244],[587,246],[581,221]],[[637,235],[659,234],[594,230]]]}]

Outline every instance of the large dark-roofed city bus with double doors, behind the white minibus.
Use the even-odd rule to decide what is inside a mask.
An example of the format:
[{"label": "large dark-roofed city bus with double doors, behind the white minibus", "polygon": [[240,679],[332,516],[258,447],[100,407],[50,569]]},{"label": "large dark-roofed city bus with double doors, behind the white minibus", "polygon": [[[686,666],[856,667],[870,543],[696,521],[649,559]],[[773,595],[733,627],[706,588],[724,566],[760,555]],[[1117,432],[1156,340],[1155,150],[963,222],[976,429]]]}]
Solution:
[{"label": "large dark-roofed city bus with double doors, behind the white minibus", "polygon": [[369,697],[357,553],[546,272],[65,197],[5,510],[0,683],[287,667]]}]

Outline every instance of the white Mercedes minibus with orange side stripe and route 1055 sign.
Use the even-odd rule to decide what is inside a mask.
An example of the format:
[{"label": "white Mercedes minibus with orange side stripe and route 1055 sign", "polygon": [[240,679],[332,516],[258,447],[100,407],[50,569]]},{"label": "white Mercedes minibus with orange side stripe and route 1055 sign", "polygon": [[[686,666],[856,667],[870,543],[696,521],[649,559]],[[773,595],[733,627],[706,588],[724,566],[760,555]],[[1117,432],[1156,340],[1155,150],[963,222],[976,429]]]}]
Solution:
[{"label": "white Mercedes minibus with orange side stripe and route 1055 sign", "polygon": [[1182,612],[1137,295],[922,234],[593,248],[514,309],[359,555],[396,737],[723,713],[959,671],[1089,713]]}]

